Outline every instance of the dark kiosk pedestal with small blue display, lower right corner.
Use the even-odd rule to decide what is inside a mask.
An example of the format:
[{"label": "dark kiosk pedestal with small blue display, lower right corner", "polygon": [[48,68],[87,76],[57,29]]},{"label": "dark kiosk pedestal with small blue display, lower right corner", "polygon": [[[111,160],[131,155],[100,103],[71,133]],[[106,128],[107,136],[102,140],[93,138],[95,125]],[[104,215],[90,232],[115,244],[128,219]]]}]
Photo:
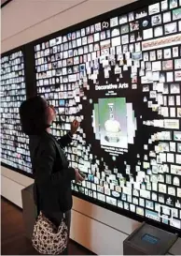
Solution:
[{"label": "dark kiosk pedestal with small blue display, lower right corner", "polygon": [[123,242],[124,255],[164,255],[173,247],[177,235],[145,222]]}]

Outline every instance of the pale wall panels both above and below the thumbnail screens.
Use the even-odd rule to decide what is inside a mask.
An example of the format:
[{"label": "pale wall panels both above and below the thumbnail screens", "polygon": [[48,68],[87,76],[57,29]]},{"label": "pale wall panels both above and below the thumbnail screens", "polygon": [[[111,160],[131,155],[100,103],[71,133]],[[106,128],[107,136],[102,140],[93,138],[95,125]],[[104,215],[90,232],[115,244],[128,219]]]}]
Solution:
[{"label": "pale wall panels both above and below the thumbnail screens", "polygon": [[[133,0],[13,0],[2,9],[2,53]],[[1,170],[2,195],[21,207],[21,189],[33,183]],[[71,238],[97,254],[122,254],[138,222],[74,198]]]}]

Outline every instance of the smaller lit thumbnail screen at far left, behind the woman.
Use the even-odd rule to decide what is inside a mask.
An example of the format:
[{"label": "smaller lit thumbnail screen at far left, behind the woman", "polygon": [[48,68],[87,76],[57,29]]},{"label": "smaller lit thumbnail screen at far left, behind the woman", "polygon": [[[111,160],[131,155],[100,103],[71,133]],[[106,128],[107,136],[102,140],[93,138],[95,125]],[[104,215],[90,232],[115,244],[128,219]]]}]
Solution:
[{"label": "smaller lit thumbnail screen at far left, behind the woman", "polygon": [[28,138],[21,132],[19,107],[26,99],[21,51],[1,58],[1,161],[31,173]]}]

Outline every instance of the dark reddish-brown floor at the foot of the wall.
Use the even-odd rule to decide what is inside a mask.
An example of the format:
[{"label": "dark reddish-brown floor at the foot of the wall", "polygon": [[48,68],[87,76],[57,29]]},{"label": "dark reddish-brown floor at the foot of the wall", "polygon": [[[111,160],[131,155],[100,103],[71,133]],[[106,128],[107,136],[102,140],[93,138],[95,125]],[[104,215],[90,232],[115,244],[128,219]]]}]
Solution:
[{"label": "dark reddish-brown floor at the foot of the wall", "polygon": [[[69,254],[92,255],[89,250],[71,241]],[[1,255],[37,255],[24,236],[21,209],[1,198]]]}]

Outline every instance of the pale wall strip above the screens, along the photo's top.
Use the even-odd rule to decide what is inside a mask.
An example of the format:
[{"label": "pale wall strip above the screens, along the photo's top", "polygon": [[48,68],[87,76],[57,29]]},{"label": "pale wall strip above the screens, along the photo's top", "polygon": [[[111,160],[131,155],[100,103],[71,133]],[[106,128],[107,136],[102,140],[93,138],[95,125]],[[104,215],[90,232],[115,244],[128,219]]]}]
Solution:
[{"label": "pale wall strip above the screens, along the photo's top", "polygon": [[2,8],[2,53],[135,0],[13,0]]}]

